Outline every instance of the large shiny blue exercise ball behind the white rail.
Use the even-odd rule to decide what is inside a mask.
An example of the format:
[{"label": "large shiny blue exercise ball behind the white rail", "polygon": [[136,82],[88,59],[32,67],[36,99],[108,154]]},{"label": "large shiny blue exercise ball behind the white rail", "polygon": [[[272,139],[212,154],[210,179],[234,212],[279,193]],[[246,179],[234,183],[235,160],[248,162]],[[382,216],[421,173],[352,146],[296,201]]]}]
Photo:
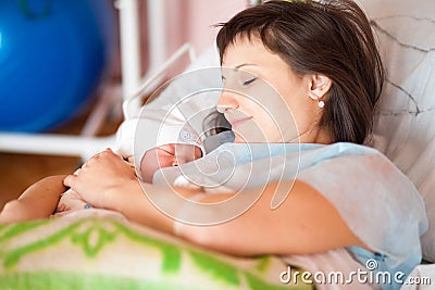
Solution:
[{"label": "large shiny blue exercise ball behind the white rail", "polygon": [[89,104],[114,17],[111,0],[0,0],[0,130],[48,130]]}]

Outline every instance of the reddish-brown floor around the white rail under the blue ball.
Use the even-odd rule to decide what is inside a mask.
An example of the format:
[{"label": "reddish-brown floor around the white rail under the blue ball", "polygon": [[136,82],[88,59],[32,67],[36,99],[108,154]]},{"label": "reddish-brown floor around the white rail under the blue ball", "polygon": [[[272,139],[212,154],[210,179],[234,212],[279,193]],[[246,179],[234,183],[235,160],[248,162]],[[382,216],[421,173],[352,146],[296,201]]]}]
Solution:
[{"label": "reddish-brown floor around the white rail under the blue ball", "polygon": [[[78,134],[87,114],[67,122],[55,133]],[[114,133],[120,119],[107,121],[99,135]],[[1,142],[1,140],[0,140]],[[80,165],[79,157],[12,154],[0,152],[0,210],[35,181],[50,175],[70,174]]]}]

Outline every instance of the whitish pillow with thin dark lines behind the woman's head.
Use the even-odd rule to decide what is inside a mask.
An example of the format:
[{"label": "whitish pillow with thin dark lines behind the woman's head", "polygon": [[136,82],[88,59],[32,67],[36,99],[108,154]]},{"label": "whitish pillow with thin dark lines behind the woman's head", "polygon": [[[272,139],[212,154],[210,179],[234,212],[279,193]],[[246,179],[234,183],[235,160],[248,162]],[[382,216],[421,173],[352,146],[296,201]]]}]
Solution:
[{"label": "whitish pillow with thin dark lines behind the woman's head", "polygon": [[414,182],[426,204],[423,259],[435,262],[435,1],[362,0],[376,31],[387,84],[374,147]]}]

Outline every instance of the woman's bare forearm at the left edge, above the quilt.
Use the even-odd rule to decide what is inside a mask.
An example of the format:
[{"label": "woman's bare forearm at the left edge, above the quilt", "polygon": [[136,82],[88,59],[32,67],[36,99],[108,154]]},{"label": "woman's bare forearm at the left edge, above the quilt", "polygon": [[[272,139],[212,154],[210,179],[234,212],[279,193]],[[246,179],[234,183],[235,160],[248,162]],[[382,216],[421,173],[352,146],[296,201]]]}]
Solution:
[{"label": "woman's bare forearm at the left edge, above the quilt", "polygon": [[27,188],[18,199],[8,202],[0,212],[0,224],[49,217],[55,210],[65,175],[46,177]]}]

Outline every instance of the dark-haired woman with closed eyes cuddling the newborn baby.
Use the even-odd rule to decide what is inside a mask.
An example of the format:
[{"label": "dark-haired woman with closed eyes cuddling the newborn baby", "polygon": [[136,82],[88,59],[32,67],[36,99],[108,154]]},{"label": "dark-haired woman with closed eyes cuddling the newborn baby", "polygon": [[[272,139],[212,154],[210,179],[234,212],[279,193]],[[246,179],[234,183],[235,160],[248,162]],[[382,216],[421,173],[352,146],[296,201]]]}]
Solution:
[{"label": "dark-haired woman with closed eyes cuddling the newborn baby", "polygon": [[[232,124],[235,143],[300,143],[310,164],[299,175],[265,185],[258,199],[254,189],[244,190],[256,196],[252,206],[209,226],[178,220],[187,200],[219,204],[236,192],[176,188],[185,200],[177,199],[173,189],[140,185],[110,150],[64,185],[94,206],[208,249],[235,255],[339,251],[362,269],[375,260],[378,267],[370,269],[408,275],[421,259],[426,217],[412,184],[380,153],[359,146],[371,131],[384,77],[363,12],[349,0],[270,1],[223,24],[217,47],[226,88],[217,110]],[[275,93],[273,101],[264,93]],[[285,199],[271,209],[275,193]],[[209,209],[210,216],[222,214]]]}]

